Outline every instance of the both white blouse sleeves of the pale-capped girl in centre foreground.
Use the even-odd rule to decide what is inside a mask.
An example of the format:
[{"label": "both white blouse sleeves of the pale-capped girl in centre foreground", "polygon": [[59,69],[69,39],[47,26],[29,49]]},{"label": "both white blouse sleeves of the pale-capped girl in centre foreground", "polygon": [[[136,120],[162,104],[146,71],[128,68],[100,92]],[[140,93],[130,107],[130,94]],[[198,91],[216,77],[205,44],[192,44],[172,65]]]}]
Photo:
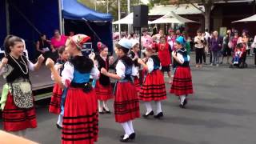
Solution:
[{"label": "both white blouse sleeves of the pale-capped girl in centre foreground", "polygon": [[[118,61],[117,66],[115,67],[116,73],[118,74],[118,76],[123,79],[126,77],[126,66],[122,61]],[[132,76],[137,76],[138,74],[138,69],[136,69],[136,67],[133,65],[132,66]]]}]

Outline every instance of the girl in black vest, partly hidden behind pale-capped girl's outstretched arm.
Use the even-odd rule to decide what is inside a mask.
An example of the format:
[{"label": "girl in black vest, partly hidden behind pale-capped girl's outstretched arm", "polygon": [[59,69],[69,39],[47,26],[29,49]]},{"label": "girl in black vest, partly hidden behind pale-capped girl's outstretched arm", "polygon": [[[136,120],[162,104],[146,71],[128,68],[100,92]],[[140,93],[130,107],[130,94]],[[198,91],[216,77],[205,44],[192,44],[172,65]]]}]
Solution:
[{"label": "girl in black vest, partly hidden behind pale-capped girl's outstretched arm", "polygon": [[[99,54],[95,57],[95,64],[98,66],[98,70],[104,67],[109,70],[111,64],[113,64],[114,58],[108,57],[108,47],[102,42],[97,43]],[[112,86],[110,78],[104,74],[100,74],[98,81],[96,82],[95,92],[98,97],[98,112],[99,114],[110,114],[110,109],[107,106],[107,101],[113,98]]]}]

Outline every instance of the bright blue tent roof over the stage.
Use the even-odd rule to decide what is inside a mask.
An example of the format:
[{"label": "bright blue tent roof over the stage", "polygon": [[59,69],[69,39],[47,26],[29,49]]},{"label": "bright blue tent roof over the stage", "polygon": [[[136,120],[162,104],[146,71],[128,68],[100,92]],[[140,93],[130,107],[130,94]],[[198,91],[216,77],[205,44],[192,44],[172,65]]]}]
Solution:
[{"label": "bright blue tent roof over the stage", "polygon": [[77,2],[77,0],[62,0],[63,18],[87,21],[112,21],[111,14],[102,14]]}]

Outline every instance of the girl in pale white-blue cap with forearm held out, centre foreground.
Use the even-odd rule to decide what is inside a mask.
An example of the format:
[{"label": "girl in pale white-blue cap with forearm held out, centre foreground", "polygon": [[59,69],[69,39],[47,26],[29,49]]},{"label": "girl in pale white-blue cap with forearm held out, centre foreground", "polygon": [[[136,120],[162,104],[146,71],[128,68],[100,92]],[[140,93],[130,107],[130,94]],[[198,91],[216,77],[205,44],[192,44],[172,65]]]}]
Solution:
[{"label": "girl in pale white-blue cap with forearm held out, centre foreground", "polygon": [[120,123],[125,130],[120,142],[129,142],[135,138],[133,121],[140,117],[139,102],[133,76],[138,74],[134,62],[127,56],[132,43],[129,39],[122,38],[117,44],[118,63],[115,67],[116,74],[109,73],[102,68],[101,73],[107,77],[118,79],[114,92],[115,121]]}]

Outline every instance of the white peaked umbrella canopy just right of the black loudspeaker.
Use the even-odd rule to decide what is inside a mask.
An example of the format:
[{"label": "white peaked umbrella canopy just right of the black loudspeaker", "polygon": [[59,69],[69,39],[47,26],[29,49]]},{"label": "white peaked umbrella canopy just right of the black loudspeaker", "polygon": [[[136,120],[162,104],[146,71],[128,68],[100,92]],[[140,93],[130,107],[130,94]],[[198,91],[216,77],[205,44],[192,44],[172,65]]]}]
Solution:
[{"label": "white peaked umbrella canopy just right of the black loudspeaker", "polygon": [[179,24],[184,24],[187,22],[195,22],[190,19],[182,18],[178,14],[175,14],[173,11],[169,12],[168,14],[162,16],[161,18],[158,18],[150,24],[156,24],[156,23],[179,23]]}]

